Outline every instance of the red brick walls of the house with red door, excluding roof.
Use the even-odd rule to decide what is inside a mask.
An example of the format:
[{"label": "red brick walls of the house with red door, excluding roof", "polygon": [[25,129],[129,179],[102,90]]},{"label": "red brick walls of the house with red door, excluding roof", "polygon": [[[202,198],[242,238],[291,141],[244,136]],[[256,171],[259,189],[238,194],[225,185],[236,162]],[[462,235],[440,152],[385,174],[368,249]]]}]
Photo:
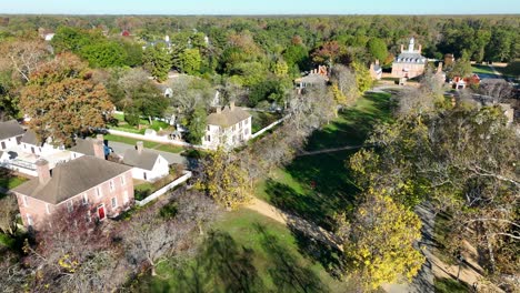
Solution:
[{"label": "red brick walls of the house with red door, excluding roof", "polygon": [[[124,185],[121,183],[121,176],[124,176]],[[113,190],[110,189],[110,180],[107,182],[101,183],[98,185],[101,191],[101,195],[98,196],[97,188],[90,189],[84,193],[89,200],[89,210],[91,211],[92,220],[98,218],[98,206],[100,204],[104,204],[104,213],[106,216],[117,216],[127,208],[133,205],[134,198],[133,198],[133,181],[132,181],[132,173],[131,170],[127,171],[122,175],[116,176],[112,179],[113,181]],[[128,192],[128,200],[127,204],[123,203],[123,194],[124,191]],[[50,212],[52,213],[56,209],[67,209],[67,202],[72,201],[73,206],[79,206],[83,202],[83,194],[80,193],[64,202],[61,202],[58,205],[49,204]],[[46,202],[37,200],[31,196],[27,196],[28,206],[24,206],[23,203],[23,195],[17,194],[18,198],[18,206],[20,209],[20,215],[23,221],[23,225],[28,226],[28,219],[27,214],[30,214],[32,224],[34,228],[44,223],[47,214]],[[112,198],[117,199],[117,208],[112,209]]]}]

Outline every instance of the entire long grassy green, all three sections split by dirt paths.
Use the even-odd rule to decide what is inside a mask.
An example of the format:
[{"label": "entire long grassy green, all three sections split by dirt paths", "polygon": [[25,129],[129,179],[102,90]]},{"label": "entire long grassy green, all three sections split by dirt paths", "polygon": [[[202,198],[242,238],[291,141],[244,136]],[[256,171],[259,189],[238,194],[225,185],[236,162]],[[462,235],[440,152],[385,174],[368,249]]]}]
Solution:
[{"label": "entire long grassy green, all three sections split by dirt paths", "polygon": [[[388,118],[386,94],[357,107],[312,135],[308,150],[360,144],[378,118]],[[381,110],[382,109],[382,110]],[[301,156],[257,185],[257,195],[324,226],[356,193],[344,160],[354,151]],[[310,182],[314,181],[312,189]],[[163,262],[159,276],[139,291],[152,292],[352,292],[332,277],[337,251],[250,210],[226,213],[201,252],[187,264]]]}]

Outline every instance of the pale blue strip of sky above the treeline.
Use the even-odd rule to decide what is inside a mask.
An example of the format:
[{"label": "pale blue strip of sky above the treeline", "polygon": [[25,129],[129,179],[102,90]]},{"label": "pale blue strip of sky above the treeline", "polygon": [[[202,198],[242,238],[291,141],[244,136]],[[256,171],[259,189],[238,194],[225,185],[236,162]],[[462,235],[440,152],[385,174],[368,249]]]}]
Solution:
[{"label": "pale blue strip of sky above the treeline", "polygon": [[0,0],[0,13],[512,14],[520,0]]}]

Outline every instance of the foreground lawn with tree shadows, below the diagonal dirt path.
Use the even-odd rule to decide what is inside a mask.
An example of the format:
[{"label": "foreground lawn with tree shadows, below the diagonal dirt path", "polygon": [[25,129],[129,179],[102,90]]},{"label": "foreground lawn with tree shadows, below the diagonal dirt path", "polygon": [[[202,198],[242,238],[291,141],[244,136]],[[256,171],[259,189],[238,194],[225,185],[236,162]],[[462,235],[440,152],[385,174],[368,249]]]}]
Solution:
[{"label": "foreground lawn with tree shadows, below the diagonal dirt path", "polygon": [[321,243],[311,243],[256,212],[240,210],[214,223],[197,256],[182,263],[163,262],[159,276],[141,282],[138,291],[348,292],[349,284],[324,269],[338,265],[337,255],[324,252]]}]

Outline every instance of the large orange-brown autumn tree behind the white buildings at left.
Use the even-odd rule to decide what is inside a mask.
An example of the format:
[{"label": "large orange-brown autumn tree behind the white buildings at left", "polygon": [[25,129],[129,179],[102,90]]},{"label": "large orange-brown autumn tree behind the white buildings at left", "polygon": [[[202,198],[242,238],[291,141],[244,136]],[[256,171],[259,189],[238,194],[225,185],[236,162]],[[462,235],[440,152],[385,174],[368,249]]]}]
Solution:
[{"label": "large orange-brown autumn tree behind the white buildings at left", "polygon": [[92,128],[103,128],[113,109],[104,87],[93,83],[86,64],[68,53],[31,74],[20,105],[41,139],[64,144]]}]

